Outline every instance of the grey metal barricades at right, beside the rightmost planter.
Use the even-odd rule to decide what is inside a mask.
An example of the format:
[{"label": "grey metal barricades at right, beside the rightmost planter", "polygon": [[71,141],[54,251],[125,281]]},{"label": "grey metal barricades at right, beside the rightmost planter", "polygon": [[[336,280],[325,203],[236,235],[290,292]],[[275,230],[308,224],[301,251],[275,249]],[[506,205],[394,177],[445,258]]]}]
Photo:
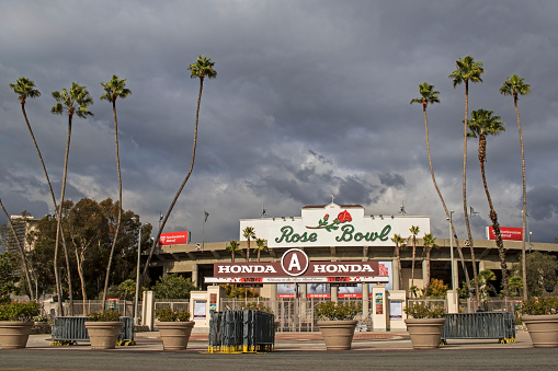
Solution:
[{"label": "grey metal barricades at right, beside the rightmost planter", "polygon": [[442,340],[499,339],[515,341],[515,323],[510,312],[477,312],[446,314]]}]

